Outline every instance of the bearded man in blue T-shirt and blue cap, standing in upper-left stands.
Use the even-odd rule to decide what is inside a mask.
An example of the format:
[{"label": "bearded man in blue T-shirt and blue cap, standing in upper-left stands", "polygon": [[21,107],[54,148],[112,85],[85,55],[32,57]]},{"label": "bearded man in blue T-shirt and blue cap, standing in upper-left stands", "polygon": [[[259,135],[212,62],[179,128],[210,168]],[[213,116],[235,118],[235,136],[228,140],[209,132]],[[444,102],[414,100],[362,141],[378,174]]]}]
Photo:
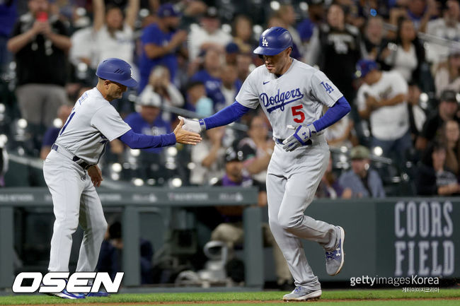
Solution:
[{"label": "bearded man in blue T-shirt and blue cap, standing in upper-left stands", "polygon": [[149,83],[151,70],[158,65],[168,67],[171,81],[176,77],[178,59],[176,52],[187,39],[185,30],[177,30],[180,13],[172,4],[163,4],[158,10],[158,21],[144,28],[142,55],[139,62],[141,81],[139,93]]}]

